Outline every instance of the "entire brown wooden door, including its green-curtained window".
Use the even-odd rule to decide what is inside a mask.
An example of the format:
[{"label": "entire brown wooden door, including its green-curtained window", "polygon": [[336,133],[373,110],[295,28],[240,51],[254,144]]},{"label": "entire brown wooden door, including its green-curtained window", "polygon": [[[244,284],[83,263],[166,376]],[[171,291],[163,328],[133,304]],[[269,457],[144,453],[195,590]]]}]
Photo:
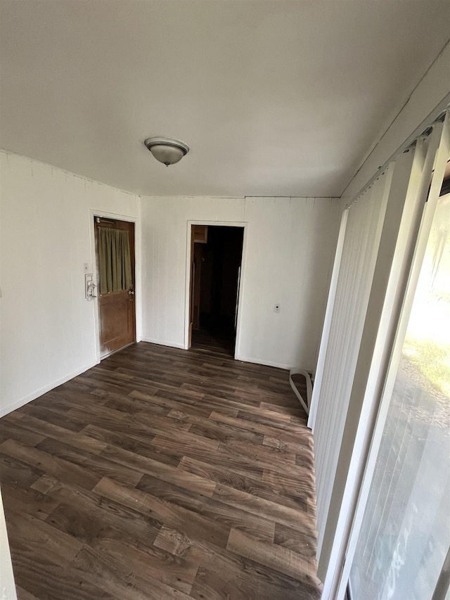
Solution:
[{"label": "entire brown wooden door, including its green-curtained window", "polygon": [[134,223],[94,217],[100,356],[136,340]]}]

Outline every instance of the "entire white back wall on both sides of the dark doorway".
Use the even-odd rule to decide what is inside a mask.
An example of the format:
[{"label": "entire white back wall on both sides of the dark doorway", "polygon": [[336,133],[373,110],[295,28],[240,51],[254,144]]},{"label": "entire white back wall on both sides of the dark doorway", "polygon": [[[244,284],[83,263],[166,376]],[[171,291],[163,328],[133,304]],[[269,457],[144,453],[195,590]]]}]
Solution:
[{"label": "entire white back wall on both sides of the dark doorway", "polygon": [[243,223],[238,358],[314,369],[338,238],[337,200],[143,197],[141,210],[143,339],[185,347],[188,221]]}]

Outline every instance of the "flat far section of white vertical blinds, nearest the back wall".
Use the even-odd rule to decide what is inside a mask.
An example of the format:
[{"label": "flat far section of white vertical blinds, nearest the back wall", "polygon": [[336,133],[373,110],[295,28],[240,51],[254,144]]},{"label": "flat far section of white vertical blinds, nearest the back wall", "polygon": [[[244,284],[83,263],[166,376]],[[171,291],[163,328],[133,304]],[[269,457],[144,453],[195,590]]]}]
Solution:
[{"label": "flat far section of white vertical blinds, nearest the back wall", "polygon": [[349,395],[364,327],[375,260],[392,179],[388,167],[347,209],[335,297],[326,346],[321,345],[320,378],[311,406],[316,457],[317,528],[319,554],[326,525]]}]

